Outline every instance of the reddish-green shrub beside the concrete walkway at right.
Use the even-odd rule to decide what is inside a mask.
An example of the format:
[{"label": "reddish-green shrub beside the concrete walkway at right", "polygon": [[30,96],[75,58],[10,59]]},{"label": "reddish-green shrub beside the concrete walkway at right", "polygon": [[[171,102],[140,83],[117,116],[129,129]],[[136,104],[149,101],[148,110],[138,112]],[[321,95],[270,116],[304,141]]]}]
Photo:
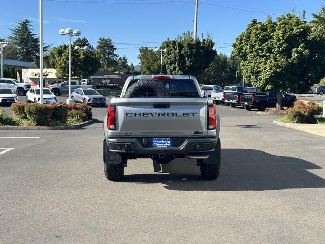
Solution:
[{"label": "reddish-green shrub beside the concrete walkway at right", "polygon": [[314,115],[318,107],[314,102],[304,103],[301,100],[295,102],[294,107],[286,110],[286,119],[290,123],[315,123]]}]

